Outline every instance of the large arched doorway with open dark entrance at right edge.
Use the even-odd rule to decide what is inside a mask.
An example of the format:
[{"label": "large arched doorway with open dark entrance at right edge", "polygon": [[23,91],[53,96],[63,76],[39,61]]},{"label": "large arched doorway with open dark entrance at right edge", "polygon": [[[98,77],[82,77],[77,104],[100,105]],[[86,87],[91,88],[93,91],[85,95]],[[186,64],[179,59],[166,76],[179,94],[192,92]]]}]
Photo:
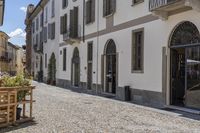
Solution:
[{"label": "large arched doorway with open dark entrance at right edge", "polygon": [[193,23],[176,26],[170,53],[171,105],[200,109],[200,34]]}]

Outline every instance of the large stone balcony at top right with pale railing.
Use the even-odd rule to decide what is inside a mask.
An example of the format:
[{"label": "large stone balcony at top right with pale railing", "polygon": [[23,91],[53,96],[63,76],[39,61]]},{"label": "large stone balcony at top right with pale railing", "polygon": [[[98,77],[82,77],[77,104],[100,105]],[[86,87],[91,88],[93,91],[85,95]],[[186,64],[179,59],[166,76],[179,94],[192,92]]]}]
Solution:
[{"label": "large stone balcony at top right with pale railing", "polygon": [[149,10],[162,20],[187,10],[200,11],[199,0],[149,0]]}]

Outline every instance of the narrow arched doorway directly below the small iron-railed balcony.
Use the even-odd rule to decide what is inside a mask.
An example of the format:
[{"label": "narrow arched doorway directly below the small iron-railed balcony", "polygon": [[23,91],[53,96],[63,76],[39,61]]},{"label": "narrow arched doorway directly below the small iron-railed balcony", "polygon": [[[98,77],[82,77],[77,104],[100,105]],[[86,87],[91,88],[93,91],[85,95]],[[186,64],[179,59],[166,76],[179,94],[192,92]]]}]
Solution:
[{"label": "narrow arched doorway directly below the small iron-railed balcony", "polygon": [[76,47],[72,57],[72,85],[79,86],[80,83],[80,57],[79,50]]}]

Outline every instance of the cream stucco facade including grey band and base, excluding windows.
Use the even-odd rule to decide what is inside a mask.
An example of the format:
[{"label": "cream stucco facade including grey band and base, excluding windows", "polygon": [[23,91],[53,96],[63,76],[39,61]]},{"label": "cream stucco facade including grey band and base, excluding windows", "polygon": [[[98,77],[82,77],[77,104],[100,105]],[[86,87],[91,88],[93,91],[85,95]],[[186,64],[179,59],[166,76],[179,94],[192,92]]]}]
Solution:
[{"label": "cream stucco facade including grey band and base, excluding windows", "polygon": [[[45,1],[45,0],[44,0]],[[36,53],[32,49],[32,69],[34,73],[42,71],[44,81],[48,80],[48,64],[52,53],[56,58],[56,83],[58,86],[70,87],[78,86],[87,89],[88,82],[92,82],[92,90],[96,93],[109,95],[109,86],[115,84],[115,90],[111,95],[118,99],[125,100],[125,86],[131,88],[131,100],[142,104],[153,106],[171,105],[171,48],[170,41],[173,31],[183,22],[193,23],[200,30],[200,4],[198,1],[181,0],[180,3],[165,3],[160,7],[152,4],[154,9],[149,9],[149,3],[153,0],[141,1],[134,4],[133,1],[116,0],[116,9],[113,14],[104,17],[103,0],[95,0],[95,20],[90,24],[85,24],[85,3],[86,1],[68,1],[66,8],[62,8],[62,0],[55,2],[55,16],[51,17],[52,0],[42,3],[42,9],[36,7],[32,14],[32,22],[40,18],[48,7],[48,22],[44,22],[43,27],[48,27],[49,23],[55,22],[55,38],[47,39],[43,43],[43,52]],[[162,0],[160,0],[162,1]],[[171,7],[170,7],[171,6]],[[172,7],[173,6],[173,7]],[[40,6],[41,7],[41,6]],[[68,43],[60,34],[60,17],[68,15],[67,26],[70,24],[70,10],[78,7],[78,32],[81,41]],[[42,30],[32,34],[34,44],[35,35]],[[133,32],[138,29],[143,31],[143,69],[140,72],[132,70],[133,64]],[[110,42],[114,42],[115,56],[110,56],[114,62],[107,62],[106,50]],[[92,43],[92,67],[88,62],[88,44]],[[33,45],[32,45],[33,46]],[[66,70],[63,69],[63,52],[66,49]],[[74,53],[78,49],[76,58]],[[111,59],[110,58],[110,59]],[[40,61],[42,59],[42,61]],[[76,60],[76,61],[75,61]],[[42,63],[40,63],[42,62]],[[112,83],[107,80],[108,64],[115,64],[114,80]],[[37,65],[36,65],[37,64]],[[77,65],[79,64],[79,65]],[[88,69],[89,68],[89,69]],[[90,70],[92,69],[92,70]],[[88,73],[90,71],[90,73]],[[76,74],[77,73],[77,74]],[[90,76],[88,76],[90,74]],[[79,76],[76,80],[76,76]],[[88,79],[91,78],[91,79]],[[78,82],[78,85],[75,84]]]}]

